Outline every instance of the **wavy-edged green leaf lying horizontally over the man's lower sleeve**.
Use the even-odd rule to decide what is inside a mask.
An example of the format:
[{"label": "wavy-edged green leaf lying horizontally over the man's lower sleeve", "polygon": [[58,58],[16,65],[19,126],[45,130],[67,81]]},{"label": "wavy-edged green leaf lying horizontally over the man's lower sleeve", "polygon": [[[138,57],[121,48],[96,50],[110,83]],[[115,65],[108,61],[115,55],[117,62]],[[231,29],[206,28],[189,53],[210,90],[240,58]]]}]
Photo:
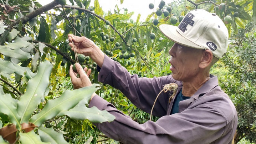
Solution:
[{"label": "wavy-edged green leaf lying horizontally over the man's lower sleeve", "polygon": [[76,105],[73,109],[68,111],[61,111],[58,116],[68,115],[75,120],[88,119],[93,123],[103,123],[105,121],[111,122],[115,119],[108,111],[100,111],[97,107],[88,108],[83,104]]}]

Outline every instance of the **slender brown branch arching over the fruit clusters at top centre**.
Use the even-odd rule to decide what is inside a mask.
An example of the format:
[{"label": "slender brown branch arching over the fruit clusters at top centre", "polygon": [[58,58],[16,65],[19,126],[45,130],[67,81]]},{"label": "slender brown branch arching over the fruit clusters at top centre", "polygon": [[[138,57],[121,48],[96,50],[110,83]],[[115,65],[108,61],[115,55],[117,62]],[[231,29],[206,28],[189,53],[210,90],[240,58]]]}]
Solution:
[{"label": "slender brown branch arching over the fruit clusters at top centre", "polygon": [[[77,7],[77,6],[69,6],[69,5],[64,5],[63,7],[64,7],[64,8],[71,8],[71,9],[76,9],[76,10],[85,11],[85,12],[87,12],[87,13],[90,13],[90,14],[92,14],[92,15],[98,17],[99,19],[101,19],[101,20],[103,20],[103,21],[106,21],[106,19],[104,19],[103,17],[101,17],[101,16],[97,15],[96,13],[94,13],[94,12],[92,12],[92,11],[90,11],[90,10],[87,10],[87,9],[79,8],[79,7]],[[54,7],[54,9],[56,9],[56,8],[62,8],[62,6],[61,6],[61,5],[57,5],[57,6]],[[109,24],[109,26],[120,36],[120,38],[121,38],[121,39],[125,42],[125,44],[127,45],[127,42],[125,41],[125,39],[124,39],[124,37],[122,36],[122,34],[120,34],[120,33],[116,30],[116,28],[115,28],[113,25]]]}]

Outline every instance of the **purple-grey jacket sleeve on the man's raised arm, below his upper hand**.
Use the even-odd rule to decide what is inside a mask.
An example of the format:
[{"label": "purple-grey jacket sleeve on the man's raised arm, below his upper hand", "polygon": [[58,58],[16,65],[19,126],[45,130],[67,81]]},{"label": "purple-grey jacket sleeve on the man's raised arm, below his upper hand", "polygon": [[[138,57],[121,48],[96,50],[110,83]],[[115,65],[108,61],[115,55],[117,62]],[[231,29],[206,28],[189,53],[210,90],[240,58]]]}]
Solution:
[{"label": "purple-grey jacket sleeve on the man's raised arm, below his upper hand", "polygon": [[[106,55],[98,80],[122,91],[134,105],[147,113],[151,112],[153,103],[163,85],[175,82],[171,75],[154,78],[139,78],[137,74],[131,75],[120,63]],[[169,93],[162,92],[154,107],[154,116],[166,115],[168,99]]]}]

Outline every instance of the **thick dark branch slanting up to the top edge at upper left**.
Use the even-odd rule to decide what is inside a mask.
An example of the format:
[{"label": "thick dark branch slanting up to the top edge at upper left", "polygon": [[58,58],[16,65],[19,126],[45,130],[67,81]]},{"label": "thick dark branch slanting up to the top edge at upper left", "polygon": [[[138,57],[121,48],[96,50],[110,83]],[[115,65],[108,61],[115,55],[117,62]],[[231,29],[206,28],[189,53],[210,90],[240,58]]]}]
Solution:
[{"label": "thick dark branch slanting up to the top edge at upper left", "polygon": [[19,24],[19,22],[21,21],[23,24],[27,23],[30,19],[42,14],[43,12],[46,12],[48,10],[51,10],[54,6],[58,5],[59,1],[58,0],[54,0],[53,2],[46,4],[45,6],[42,6],[41,8],[29,13],[28,15],[24,16],[21,19],[18,19],[15,21],[15,23],[13,23],[11,26],[15,26],[17,24]]}]

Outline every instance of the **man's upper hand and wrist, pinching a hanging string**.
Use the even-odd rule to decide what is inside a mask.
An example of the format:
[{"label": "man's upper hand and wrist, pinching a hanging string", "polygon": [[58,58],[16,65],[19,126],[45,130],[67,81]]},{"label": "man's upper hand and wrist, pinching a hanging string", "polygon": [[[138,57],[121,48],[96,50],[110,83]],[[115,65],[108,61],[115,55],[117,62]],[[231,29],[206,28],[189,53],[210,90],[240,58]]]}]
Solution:
[{"label": "man's upper hand and wrist, pinching a hanging string", "polygon": [[77,37],[73,34],[68,34],[68,39],[72,51],[76,49],[77,53],[89,56],[91,59],[93,59],[93,61],[98,64],[99,67],[102,67],[104,53],[93,41],[86,37]]}]

